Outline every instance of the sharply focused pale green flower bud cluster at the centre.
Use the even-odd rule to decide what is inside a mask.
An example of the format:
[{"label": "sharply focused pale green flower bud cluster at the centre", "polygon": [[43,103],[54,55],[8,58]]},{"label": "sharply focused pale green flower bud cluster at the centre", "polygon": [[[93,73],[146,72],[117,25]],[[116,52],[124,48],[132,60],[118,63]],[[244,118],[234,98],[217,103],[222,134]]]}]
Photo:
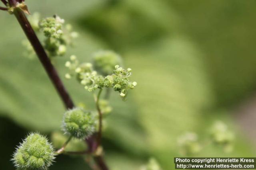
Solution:
[{"label": "sharply focused pale green flower bud cluster at the centre", "polygon": [[[109,56],[106,55],[106,58]],[[107,61],[100,57],[100,63],[102,61]],[[116,58],[119,60],[119,58]],[[94,63],[97,63],[94,61]],[[111,63],[116,63],[111,61]],[[100,64],[97,64],[98,66]],[[111,65],[111,64],[109,64]],[[102,76],[93,70],[93,65],[91,63],[82,63],[79,64],[79,61],[76,59],[76,56],[72,55],[70,61],[67,61],[65,64],[69,68],[70,72],[65,75],[66,78],[70,79],[72,76],[76,75],[76,78],[84,86],[86,90],[92,92],[98,88],[113,88],[114,91],[119,92],[120,96],[125,100],[127,96],[127,90],[133,89],[137,82],[130,82],[129,78],[132,75],[132,69],[120,67],[119,65],[114,66],[112,74],[107,76]]]}]

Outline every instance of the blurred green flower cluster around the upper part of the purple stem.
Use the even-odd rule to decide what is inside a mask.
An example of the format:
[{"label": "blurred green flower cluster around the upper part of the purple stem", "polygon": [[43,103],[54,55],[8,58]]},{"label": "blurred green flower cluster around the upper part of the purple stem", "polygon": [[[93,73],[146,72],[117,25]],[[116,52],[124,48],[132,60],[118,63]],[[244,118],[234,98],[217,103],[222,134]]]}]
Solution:
[{"label": "blurred green flower cluster around the upper part of the purple stem", "polygon": [[[67,46],[72,46],[73,39],[78,37],[78,33],[72,31],[72,26],[70,24],[64,25],[65,21],[59,16],[54,15],[53,17],[40,20],[40,14],[34,13],[28,19],[34,31],[42,31],[43,35],[46,37],[43,41],[43,46],[49,57],[65,55]],[[29,58],[32,58],[31,56],[34,56],[35,53],[30,43],[24,41],[22,44],[28,51],[24,53],[24,55],[29,55]]]}]

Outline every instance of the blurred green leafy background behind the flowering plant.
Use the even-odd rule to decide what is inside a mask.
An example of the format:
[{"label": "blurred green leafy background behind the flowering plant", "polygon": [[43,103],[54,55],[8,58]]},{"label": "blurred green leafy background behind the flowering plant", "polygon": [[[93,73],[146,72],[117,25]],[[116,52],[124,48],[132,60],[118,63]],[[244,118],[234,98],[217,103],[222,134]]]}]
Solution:
[{"label": "blurred green leafy background behind the flowering plant", "polygon": [[[95,51],[111,49],[132,68],[138,86],[126,102],[112,94],[104,131],[112,170],[139,170],[150,157],[163,170],[174,169],[173,157],[182,156],[177,137],[195,131],[204,138],[216,120],[236,134],[233,152],[211,146],[196,156],[255,157],[255,0],[26,2],[31,13],[58,14],[80,33],[76,47],[56,60],[63,80],[71,54],[90,62]],[[64,107],[40,62],[22,57],[25,35],[14,16],[1,12],[0,23],[0,165],[13,170],[15,146],[29,131],[60,129]],[[76,104],[94,107],[76,82],[64,84]],[[69,156],[58,156],[50,167],[86,168],[82,158]]]}]

